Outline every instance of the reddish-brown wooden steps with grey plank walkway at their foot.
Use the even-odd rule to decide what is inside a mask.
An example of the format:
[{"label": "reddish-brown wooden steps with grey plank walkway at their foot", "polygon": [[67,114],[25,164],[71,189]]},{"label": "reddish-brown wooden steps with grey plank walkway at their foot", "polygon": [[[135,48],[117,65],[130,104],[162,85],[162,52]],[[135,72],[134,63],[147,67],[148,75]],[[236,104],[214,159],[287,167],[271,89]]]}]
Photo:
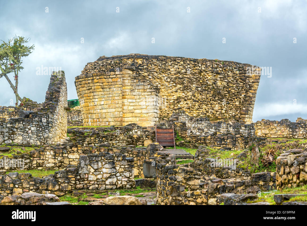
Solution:
[{"label": "reddish-brown wooden steps with grey plank walkway at their foot", "polygon": [[156,142],[158,142],[161,146],[174,146],[174,149],[167,149],[170,154],[174,154],[176,158],[194,158],[194,156],[183,149],[176,149],[175,143],[175,133],[174,126],[171,129],[157,129],[157,125],[155,126],[156,131]]}]

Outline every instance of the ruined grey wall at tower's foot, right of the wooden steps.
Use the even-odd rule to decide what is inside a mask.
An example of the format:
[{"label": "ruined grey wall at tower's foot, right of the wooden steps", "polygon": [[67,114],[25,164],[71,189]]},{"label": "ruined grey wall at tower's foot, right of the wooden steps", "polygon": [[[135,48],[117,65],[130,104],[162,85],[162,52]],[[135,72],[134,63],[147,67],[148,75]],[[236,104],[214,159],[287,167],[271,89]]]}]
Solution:
[{"label": "ruined grey wall at tower's foot, right of the wooden steps", "polygon": [[226,150],[240,150],[248,147],[251,141],[265,138],[255,137],[253,124],[217,122],[212,123],[208,118],[194,118],[183,110],[175,111],[169,120],[159,123],[159,127],[174,126],[176,135],[187,142],[214,145]]}]

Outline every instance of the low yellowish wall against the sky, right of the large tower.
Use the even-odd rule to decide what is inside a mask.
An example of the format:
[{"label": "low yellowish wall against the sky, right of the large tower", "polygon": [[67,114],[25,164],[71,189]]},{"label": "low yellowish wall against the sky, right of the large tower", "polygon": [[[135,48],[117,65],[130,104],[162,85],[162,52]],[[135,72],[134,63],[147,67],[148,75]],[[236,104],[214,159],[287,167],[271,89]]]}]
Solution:
[{"label": "low yellowish wall against the sky, right of the large tower", "polygon": [[258,137],[270,138],[307,138],[307,121],[297,118],[296,122],[289,119],[270,121],[262,119],[254,123]]}]

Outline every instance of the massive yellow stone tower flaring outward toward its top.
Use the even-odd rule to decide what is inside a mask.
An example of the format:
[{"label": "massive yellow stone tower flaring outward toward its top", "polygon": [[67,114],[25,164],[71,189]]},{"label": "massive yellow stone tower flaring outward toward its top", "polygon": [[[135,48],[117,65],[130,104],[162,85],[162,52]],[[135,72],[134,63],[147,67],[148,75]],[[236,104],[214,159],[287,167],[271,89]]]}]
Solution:
[{"label": "massive yellow stone tower flaring outward toward its top", "polygon": [[152,126],[191,116],[251,123],[261,68],[233,61],[130,54],[99,57],[76,77],[84,125]]}]

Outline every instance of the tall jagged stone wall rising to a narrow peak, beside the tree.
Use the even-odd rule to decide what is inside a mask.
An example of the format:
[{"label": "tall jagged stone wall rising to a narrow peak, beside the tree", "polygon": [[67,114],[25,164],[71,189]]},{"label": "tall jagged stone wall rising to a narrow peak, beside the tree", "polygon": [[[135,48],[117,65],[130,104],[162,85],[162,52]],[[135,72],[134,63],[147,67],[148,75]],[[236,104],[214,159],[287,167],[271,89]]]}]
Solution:
[{"label": "tall jagged stone wall rising to a narrow peak, beside the tree", "polygon": [[66,137],[67,85],[64,71],[53,72],[42,105],[23,110],[27,109],[26,106],[19,107],[18,117],[0,119],[0,144],[45,145]]}]

